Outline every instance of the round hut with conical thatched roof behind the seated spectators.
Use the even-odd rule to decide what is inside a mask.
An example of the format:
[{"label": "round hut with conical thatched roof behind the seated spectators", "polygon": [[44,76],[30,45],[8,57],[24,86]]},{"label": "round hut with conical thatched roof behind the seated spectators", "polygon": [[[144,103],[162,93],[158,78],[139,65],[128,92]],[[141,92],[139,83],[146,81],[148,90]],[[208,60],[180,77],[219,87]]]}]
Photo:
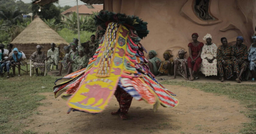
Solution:
[{"label": "round hut with conical thatched roof behind the seated spectators", "polygon": [[19,51],[23,51],[26,57],[36,51],[37,45],[42,45],[41,51],[47,54],[47,51],[51,48],[51,43],[60,44],[61,50],[65,45],[69,43],[66,42],[62,37],[59,36],[57,32],[52,30],[44,21],[39,17],[34,18],[34,20],[24,29],[11,43]]}]

